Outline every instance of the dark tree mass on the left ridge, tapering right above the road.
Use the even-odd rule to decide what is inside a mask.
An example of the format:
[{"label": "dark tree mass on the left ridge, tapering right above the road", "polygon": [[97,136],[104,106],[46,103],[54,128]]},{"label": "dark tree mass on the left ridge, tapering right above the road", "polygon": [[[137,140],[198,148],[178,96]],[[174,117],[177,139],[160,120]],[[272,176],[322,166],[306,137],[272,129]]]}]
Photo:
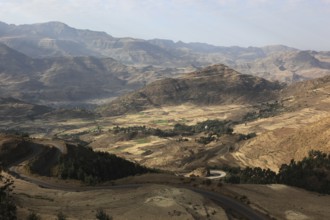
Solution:
[{"label": "dark tree mass on the left ridge, tapering right above the road", "polygon": [[78,179],[87,184],[155,172],[113,154],[75,146],[68,147],[68,153],[60,157],[57,167],[58,177]]}]

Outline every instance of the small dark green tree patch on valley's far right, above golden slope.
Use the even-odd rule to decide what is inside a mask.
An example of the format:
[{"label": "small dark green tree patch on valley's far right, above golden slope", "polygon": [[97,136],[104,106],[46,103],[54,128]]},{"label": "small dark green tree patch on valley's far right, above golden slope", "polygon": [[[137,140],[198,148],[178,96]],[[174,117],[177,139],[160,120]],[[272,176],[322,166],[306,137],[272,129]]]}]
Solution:
[{"label": "small dark green tree patch on valley's far right, above golden slope", "polygon": [[262,103],[258,111],[248,112],[243,116],[242,121],[253,121],[258,118],[269,118],[277,115],[283,109],[283,105],[278,101],[274,103]]}]

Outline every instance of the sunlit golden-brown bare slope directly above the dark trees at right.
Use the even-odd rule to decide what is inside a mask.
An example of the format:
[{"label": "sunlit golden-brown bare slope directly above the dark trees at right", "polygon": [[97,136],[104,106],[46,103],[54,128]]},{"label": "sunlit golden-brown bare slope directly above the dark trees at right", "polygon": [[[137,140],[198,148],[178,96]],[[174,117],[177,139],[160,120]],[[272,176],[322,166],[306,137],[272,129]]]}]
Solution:
[{"label": "sunlit golden-brown bare slope directly above the dark trees at right", "polygon": [[297,129],[289,125],[261,133],[244,143],[233,156],[243,166],[259,166],[278,171],[282,164],[290,163],[291,159],[302,160],[311,150],[329,153],[329,123],[328,116],[319,121],[300,124]]}]

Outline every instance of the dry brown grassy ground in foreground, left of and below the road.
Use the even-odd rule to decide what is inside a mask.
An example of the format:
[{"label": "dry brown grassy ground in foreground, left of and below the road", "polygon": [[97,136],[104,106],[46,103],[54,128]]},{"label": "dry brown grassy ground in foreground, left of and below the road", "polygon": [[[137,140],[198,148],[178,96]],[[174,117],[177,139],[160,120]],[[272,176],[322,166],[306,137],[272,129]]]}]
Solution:
[{"label": "dry brown grassy ground in foreground, left of and below the road", "polygon": [[25,219],[30,211],[42,219],[55,219],[61,211],[69,220],[88,220],[95,219],[99,208],[114,219],[227,219],[221,207],[201,195],[165,185],[68,192],[16,180],[14,193],[18,219]]}]

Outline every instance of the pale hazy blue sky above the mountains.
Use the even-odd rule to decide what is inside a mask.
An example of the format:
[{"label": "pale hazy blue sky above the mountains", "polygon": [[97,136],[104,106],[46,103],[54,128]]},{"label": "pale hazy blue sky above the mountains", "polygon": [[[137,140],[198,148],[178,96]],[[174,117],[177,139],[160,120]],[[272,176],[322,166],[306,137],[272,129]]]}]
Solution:
[{"label": "pale hazy blue sky above the mountains", "polygon": [[330,0],[0,0],[0,21],[114,37],[330,50]]}]

